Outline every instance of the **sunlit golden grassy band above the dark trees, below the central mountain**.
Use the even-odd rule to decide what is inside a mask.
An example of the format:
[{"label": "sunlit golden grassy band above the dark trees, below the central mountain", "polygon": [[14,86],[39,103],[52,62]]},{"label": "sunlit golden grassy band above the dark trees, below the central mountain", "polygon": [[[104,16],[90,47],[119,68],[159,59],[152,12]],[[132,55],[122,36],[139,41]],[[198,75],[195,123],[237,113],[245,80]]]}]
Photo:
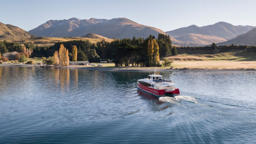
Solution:
[{"label": "sunlit golden grassy band above the dark trees, below the central mountain", "polygon": [[18,44],[30,43],[38,46],[49,46],[54,45],[57,42],[66,42],[73,40],[89,40],[91,43],[96,44],[101,40],[108,42],[113,41],[113,39],[94,39],[86,37],[36,37],[36,38],[25,38],[25,39],[6,39],[8,42],[17,42]]}]

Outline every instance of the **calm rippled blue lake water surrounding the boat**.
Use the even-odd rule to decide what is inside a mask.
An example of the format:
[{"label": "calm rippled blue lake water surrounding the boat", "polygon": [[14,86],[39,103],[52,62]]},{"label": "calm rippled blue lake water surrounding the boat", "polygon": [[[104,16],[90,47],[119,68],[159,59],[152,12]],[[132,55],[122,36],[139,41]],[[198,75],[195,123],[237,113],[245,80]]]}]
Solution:
[{"label": "calm rippled blue lake water surrounding the boat", "polygon": [[256,143],[256,72],[160,74],[181,96],[137,91],[147,72],[0,66],[0,143]]}]

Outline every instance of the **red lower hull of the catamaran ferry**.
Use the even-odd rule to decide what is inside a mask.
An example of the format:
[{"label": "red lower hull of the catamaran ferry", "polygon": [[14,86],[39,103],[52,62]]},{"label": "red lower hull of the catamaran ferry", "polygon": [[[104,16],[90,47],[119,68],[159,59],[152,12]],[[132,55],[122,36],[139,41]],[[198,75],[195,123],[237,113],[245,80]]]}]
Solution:
[{"label": "red lower hull of the catamaran ferry", "polygon": [[165,96],[165,94],[171,94],[171,95],[179,95],[180,94],[179,89],[175,89],[174,91],[171,91],[171,92],[165,92],[165,90],[156,90],[152,87],[147,87],[147,86],[139,84],[139,83],[137,84],[137,86],[141,90],[146,91],[151,94],[154,94],[156,96]]}]

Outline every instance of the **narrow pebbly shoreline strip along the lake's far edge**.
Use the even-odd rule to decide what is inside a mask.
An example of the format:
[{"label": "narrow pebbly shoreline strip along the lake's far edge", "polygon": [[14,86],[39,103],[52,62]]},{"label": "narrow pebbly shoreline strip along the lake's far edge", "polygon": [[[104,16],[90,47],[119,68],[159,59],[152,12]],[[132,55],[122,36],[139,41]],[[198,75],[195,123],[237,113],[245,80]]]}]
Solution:
[{"label": "narrow pebbly shoreline strip along the lake's far edge", "polygon": [[[0,67],[35,67],[35,65],[30,64],[0,64]],[[54,68],[54,67],[53,67]],[[76,69],[87,69],[87,70],[101,70],[101,71],[132,71],[132,72],[154,72],[155,67],[99,67],[99,66],[68,66],[68,67],[60,67],[60,68],[76,68]],[[221,69],[221,68],[176,68],[176,69],[169,69],[169,68],[156,68],[157,72],[172,72],[172,71],[256,71],[254,68],[237,68],[237,69]]]}]

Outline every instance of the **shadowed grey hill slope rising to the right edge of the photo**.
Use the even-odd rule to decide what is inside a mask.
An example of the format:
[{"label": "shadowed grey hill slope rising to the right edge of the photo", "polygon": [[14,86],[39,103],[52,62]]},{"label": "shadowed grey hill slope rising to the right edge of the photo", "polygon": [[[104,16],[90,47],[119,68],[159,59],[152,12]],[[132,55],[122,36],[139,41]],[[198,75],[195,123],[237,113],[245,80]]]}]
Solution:
[{"label": "shadowed grey hill slope rising to the right edge of the photo", "polygon": [[256,45],[256,28],[248,31],[245,34],[236,36],[235,38],[228,40],[223,43],[218,43],[217,45]]}]

